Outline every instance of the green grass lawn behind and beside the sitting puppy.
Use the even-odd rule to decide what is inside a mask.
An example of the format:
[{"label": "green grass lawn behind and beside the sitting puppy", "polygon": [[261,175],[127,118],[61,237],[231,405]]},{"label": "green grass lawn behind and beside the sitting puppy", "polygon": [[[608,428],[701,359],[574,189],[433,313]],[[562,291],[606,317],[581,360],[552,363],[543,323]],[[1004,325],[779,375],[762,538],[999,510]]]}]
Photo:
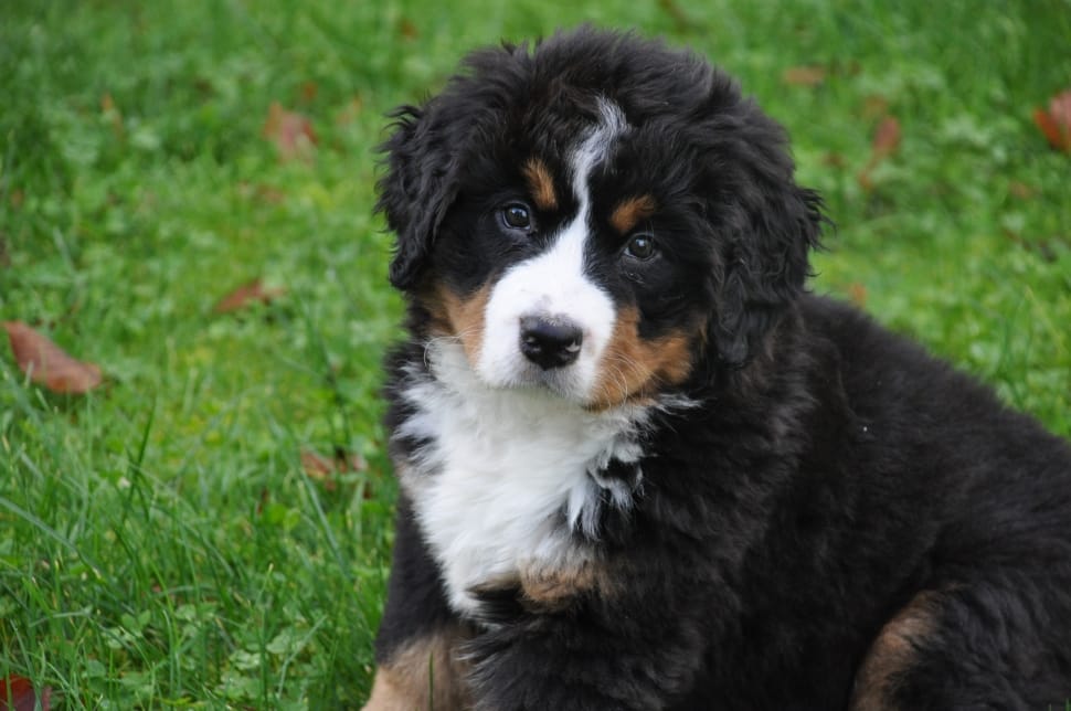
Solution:
[{"label": "green grass lawn behind and beside the sitting puppy", "polygon": [[[99,363],[41,391],[0,343],[0,675],[77,708],[354,708],[395,487],[397,336],[371,214],[382,115],[468,49],[593,21],[690,44],[789,129],[839,229],[819,291],[1071,435],[1071,3],[9,2],[0,320]],[[785,70],[816,66],[816,86]],[[318,136],[262,136],[272,103]],[[878,121],[902,142],[872,171]],[[285,296],[213,305],[262,277]],[[310,477],[303,452],[367,466]],[[2,701],[0,701],[2,705]]]}]

